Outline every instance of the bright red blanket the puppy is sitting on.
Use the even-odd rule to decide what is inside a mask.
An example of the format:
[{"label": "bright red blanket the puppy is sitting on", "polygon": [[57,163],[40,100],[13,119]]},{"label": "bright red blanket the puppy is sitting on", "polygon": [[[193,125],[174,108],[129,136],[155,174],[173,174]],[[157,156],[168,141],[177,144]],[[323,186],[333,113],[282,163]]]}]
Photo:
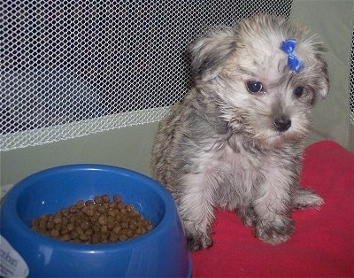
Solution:
[{"label": "bright red blanket the puppy is sitting on", "polygon": [[270,245],[234,212],[216,212],[213,246],[192,252],[193,277],[354,277],[354,154],[334,142],[304,151],[304,187],[325,200],[293,212],[294,235]]}]

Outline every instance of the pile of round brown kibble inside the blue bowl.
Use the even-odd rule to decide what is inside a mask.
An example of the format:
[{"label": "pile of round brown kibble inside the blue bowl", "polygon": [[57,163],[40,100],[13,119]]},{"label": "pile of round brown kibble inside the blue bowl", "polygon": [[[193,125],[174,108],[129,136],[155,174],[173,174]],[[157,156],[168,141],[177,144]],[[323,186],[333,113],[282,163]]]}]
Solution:
[{"label": "pile of round brown kibble inside the blue bowl", "polygon": [[74,243],[115,243],[142,236],[152,229],[150,220],[126,205],[119,195],[78,201],[55,214],[32,220],[32,228],[46,236]]}]

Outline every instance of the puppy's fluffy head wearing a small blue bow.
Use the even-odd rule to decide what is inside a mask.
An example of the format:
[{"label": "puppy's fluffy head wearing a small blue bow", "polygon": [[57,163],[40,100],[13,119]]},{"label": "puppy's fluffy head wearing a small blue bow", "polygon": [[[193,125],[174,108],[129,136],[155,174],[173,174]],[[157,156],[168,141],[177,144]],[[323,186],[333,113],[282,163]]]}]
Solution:
[{"label": "puppy's fluffy head wearing a small blue bow", "polygon": [[197,40],[191,70],[218,117],[252,143],[278,148],[304,138],[315,98],[327,96],[323,51],[305,28],[258,15]]}]

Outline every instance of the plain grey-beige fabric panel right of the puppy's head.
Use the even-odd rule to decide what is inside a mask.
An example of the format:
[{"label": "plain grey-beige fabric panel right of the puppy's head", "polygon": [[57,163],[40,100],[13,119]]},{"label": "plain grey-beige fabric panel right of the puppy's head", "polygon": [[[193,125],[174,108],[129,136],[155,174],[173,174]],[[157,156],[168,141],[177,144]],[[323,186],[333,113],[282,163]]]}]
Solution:
[{"label": "plain grey-beige fabric panel right of the puppy's head", "polygon": [[310,27],[327,48],[330,94],[313,109],[308,143],[328,139],[354,151],[349,113],[349,68],[353,0],[294,0],[291,20]]}]

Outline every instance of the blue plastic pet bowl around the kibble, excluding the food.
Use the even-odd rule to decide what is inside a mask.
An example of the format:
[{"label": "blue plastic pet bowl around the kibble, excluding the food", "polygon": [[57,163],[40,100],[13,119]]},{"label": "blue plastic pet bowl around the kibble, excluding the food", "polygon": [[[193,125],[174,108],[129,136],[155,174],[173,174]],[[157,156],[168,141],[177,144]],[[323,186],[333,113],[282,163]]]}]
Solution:
[{"label": "blue plastic pet bowl around the kibble, excluding the food", "polygon": [[[125,203],[135,205],[154,228],[126,242],[100,244],[68,243],[30,228],[31,220],[44,213],[55,213],[80,199],[104,194],[119,194]],[[19,181],[4,197],[0,221],[6,267],[21,267],[25,275],[27,267],[30,277],[191,274],[189,251],[173,197],[157,181],[131,170],[73,165],[33,174]],[[16,261],[16,254],[23,262]]]}]

